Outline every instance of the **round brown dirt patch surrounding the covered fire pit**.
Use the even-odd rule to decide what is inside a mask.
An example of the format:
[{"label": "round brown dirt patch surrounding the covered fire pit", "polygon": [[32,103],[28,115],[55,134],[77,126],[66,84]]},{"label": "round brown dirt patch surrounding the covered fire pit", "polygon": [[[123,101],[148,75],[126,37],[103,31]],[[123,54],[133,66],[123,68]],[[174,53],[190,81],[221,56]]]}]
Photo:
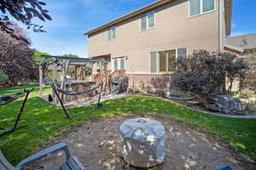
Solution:
[{"label": "round brown dirt patch surrounding the covered fire pit", "polygon": [[[111,116],[80,123],[56,136],[41,149],[65,142],[73,156],[77,156],[88,170],[136,170],[120,156],[119,125],[128,118]],[[146,116],[162,122],[166,128],[167,146],[163,164],[150,169],[158,170],[217,170],[230,165],[236,170],[253,170],[255,164],[243,160],[230,144],[218,137],[177,122],[169,117]],[[64,161],[63,153],[56,153],[34,163],[29,169],[52,170]]]}]

